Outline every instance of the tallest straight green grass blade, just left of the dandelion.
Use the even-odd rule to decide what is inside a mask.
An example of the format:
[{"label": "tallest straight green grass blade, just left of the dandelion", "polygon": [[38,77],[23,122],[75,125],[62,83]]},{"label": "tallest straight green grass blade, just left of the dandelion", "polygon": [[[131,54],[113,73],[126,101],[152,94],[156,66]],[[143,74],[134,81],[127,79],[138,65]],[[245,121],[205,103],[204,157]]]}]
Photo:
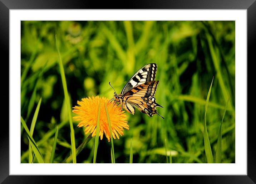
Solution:
[{"label": "tallest straight green grass blade, just left of the dandelion", "polygon": [[74,133],[74,127],[73,127],[72,117],[71,117],[71,105],[70,105],[70,101],[69,101],[68,87],[67,87],[67,82],[66,82],[66,77],[65,77],[65,72],[64,72],[62,59],[61,59],[61,56],[60,56],[60,50],[59,50],[57,35],[55,35],[55,40],[56,40],[56,48],[57,48],[57,52],[58,52],[58,56],[59,56],[58,61],[59,61],[59,67],[60,67],[60,76],[61,76],[61,81],[62,81],[62,86],[63,86],[63,91],[64,91],[65,102],[66,102],[67,109],[68,109],[73,163],[77,163],[77,158],[76,158],[76,154],[75,154],[75,133]]}]

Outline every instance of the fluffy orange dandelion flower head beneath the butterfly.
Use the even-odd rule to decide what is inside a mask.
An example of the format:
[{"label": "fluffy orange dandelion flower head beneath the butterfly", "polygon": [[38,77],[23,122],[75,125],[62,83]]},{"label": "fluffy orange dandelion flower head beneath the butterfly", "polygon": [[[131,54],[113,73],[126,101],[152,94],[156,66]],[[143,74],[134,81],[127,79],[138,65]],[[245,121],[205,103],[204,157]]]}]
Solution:
[{"label": "fluffy orange dandelion flower head beneath the butterfly", "polygon": [[[73,107],[74,113],[78,116],[74,116],[75,121],[81,121],[78,124],[78,127],[85,127],[85,134],[92,133],[92,137],[96,135],[96,126],[97,126],[97,118],[98,111],[100,111],[100,120],[99,120],[99,137],[102,140],[103,132],[110,141],[110,132],[108,126],[108,118],[105,110],[105,105],[108,109],[108,115],[110,119],[112,136],[115,139],[117,137],[119,139],[118,134],[123,136],[123,128],[129,130],[129,126],[127,124],[127,115],[124,114],[124,111],[121,110],[120,107],[115,103],[109,102],[109,99],[105,97],[92,97],[92,98],[82,98],[82,101],[77,101],[80,106]],[[100,110],[99,110],[100,103]]]}]

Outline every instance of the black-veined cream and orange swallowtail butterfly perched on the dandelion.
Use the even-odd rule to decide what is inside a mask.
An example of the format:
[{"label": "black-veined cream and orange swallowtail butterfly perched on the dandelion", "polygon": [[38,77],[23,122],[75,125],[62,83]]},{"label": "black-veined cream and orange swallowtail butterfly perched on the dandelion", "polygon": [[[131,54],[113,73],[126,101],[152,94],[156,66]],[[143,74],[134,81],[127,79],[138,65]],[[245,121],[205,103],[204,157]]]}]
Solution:
[{"label": "black-veined cream and orange swallowtail butterfly perched on the dandelion", "polygon": [[[158,114],[156,107],[162,106],[156,103],[156,98],[154,97],[159,83],[159,81],[155,81],[156,71],[157,64],[149,63],[140,68],[130,78],[121,94],[114,92],[115,101],[122,104],[121,109],[124,108],[129,113],[134,114],[134,107],[136,107],[150,117]],[[164,119],[164,117],[162,118]]]}]

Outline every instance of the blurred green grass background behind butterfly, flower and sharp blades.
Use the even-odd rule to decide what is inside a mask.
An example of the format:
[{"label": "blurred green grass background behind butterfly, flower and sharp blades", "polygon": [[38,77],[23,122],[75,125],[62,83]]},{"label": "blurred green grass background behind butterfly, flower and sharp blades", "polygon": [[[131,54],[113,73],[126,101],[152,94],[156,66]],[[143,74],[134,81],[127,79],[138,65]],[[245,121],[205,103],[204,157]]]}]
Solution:
[{"label": "blurred green grass background behind butterfly, flower and sharp blades", "polygon": [[[49,162],[59,126],[53,163],[71,154],[68,112],[58,65],[58,37],[72,107],[81,98],[112,98],[143,65],[157,63],[157,108],[165,119],[139,112],[128,115],[129,131],[114,140],[115,162],[207,163],[203,123],[215,158],[222,124],[222,163],[235,163],[235,21],[21,21],[21,116],[30,128],[42,98],[33,138]],[[70,107],[71,108],[71,107]],[[72,117],[74,113],[72,113]],[[75,147],[85,139],[73,121]],[[166,139],[166,147],[165,147]],[[21,163],[28,163],[28,137],[21,126]],[[94,138],[77,156],[92,163]],[[111,145],[99,141],[97,163],[111,163]],[[37,159],[34,158],[34,163]]]}]

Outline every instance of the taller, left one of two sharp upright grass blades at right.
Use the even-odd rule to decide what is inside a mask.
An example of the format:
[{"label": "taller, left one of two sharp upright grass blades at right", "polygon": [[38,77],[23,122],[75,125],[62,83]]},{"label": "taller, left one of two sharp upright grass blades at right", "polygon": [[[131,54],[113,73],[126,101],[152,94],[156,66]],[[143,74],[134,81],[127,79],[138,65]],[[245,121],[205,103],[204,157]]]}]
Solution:
[{"label": "taller, left one of two sharp upright grass blades at right", "polygon": [[[213,82],[213,78],[212,78],[212,82]],[[205,123],[203,126],[203,140],[205,143],[205,154],[206,154],[206,158],[207,158],[207,163],[213,163],[212,149],[211,149],[211,144],[209,141],[207,127],[206,127],[206,112],[207,112],[207,107],[208,107],[208,103],[209,103],[211,90],[212,90],[212,83],[211,83],[210,89],[207,94],[207,99],[206,99],[206,104],[205,104]]]}]

